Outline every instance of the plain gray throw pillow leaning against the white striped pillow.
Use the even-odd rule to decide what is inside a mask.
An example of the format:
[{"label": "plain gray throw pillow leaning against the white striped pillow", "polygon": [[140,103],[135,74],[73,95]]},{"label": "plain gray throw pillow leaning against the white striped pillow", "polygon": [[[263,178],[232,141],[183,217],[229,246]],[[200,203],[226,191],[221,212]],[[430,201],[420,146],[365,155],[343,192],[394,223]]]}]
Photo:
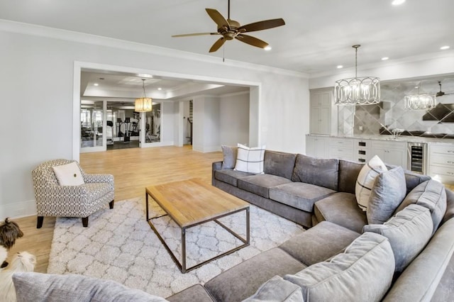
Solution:
[{"label": "plain gray throw pillow leaning against the white striped pillow", "polygon": [[404,169],[396,167],[380,173],[370,191],[367,206],[367,222],[369,224],[384,223],[392,216],[402,203],[406,194]]}]

